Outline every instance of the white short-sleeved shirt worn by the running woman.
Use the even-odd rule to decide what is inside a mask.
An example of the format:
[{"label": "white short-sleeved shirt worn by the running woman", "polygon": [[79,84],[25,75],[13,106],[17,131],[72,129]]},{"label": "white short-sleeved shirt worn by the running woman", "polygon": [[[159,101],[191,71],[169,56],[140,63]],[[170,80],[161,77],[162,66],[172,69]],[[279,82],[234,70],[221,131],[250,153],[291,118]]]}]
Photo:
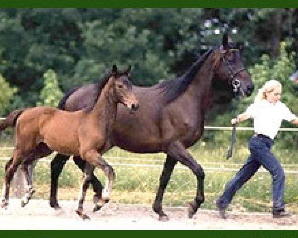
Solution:
[{"label": "white short-sleeved shirt worn by the running woman", "polygon": [[283,120],[290,122],[296,118],[295,114],[282,102],[272,104],[266,99],[254,102],[245,113],[253,118],[255,133],[266,135],[271,139],[275,138]]}]

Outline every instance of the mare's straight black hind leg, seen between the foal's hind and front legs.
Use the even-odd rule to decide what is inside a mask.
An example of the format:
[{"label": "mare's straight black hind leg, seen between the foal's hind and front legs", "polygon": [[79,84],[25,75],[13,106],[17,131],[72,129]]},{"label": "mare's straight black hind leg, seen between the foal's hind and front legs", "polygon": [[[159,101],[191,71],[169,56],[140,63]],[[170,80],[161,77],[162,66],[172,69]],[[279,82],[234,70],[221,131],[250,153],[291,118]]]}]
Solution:
[{"label": "mare's straight black hind leg, seen between the foal's hind and front legs", "polygon": [[61,208],[57,201],[58,177],[61,174],[61,171],[68,159],[69,156],[57,154],[51,161],[50,206],[54,209]]}]

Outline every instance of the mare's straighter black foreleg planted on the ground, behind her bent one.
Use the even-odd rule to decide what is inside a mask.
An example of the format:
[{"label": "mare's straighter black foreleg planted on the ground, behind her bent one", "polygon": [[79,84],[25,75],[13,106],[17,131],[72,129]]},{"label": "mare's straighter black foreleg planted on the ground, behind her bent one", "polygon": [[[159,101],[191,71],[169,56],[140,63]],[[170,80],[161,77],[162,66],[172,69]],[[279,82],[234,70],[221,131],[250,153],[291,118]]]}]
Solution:
[{"label": "mare's straighter black foreleg planted on the ground, behind her bent one", "polygon": [[153,210],[159,215],[159,220],[167,221],[169,218],[162,210],[162,199],[164,195],[165,188],[169,182],[169,179],[172,175],[173,169],[177,164],[177,160],[173,159],[171,156],[167,156],[165,159],[163,171],[160,176],[159,187],[156,194],[156,198],[153,204]]}]

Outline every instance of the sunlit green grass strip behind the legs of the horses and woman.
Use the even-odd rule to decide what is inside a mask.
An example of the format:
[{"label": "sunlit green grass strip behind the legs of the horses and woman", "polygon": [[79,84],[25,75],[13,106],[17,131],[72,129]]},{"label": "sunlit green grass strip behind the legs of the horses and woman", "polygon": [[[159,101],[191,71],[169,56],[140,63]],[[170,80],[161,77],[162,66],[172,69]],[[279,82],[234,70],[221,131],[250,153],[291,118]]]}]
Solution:
[{"label": "sunlit green grass strip behind the legs of the horses and woman", "polygon": [[[6,143],[5,146],[11,146]],[[226,161],[226,147],[217,147],[198,142],[189,149],[193,157],[204,167],[238,169],[246,160],[249,151],[246,145],[237,145],[233,157]],[[285,170],[298,170],[297,150],[279,150],[273,147],[273,153],[279,158]],[[11,150],[0,151],[0,156],[10,156]],[[154,164],[163,165],[164,154],[134,154],[119,148],[113,148],[106,153],[109,163]],[[130,161],[122,158],[131,158]],[[136,160],[134,158],[137,158]],[[144,161],[144,159],[147,159]],[[148,161],[150,159],[150,161]],[[210,162],[215,162],[210,164]],[[4,164],[0,161],[0,182],[3,182]],[[177,167],[181,167],[178,164]],[[114,166],[116,180],[113,186],[111,201],[129,204],[152,204],[159,185],[162,167],[129,167]],[[95,171],[98,178],[105,182],[102,171]],[[223,192],[225,184],[234,176],[235,171],[205,170],[205,202],[202,208],[215,209],[213,201]],[[70,160],[59,178],[59,199],[76,200],[79,192],[82,173]],[[256,173],[235,195],[229,209],[235,211],[269,212],[271,210],[271,176],[268,172]],[[50,183],[50,166],[48,162],[39,162],[35,169],[35,198],[48,199]],[[175,168],[164,196],[164,205],[185,206],[194,199],[196,178],[188,169]],[[86,200],[91,200],[92,189],[88,189]],[[286,174],[285,202],[287,209],[298,214],[298,175]]]}]

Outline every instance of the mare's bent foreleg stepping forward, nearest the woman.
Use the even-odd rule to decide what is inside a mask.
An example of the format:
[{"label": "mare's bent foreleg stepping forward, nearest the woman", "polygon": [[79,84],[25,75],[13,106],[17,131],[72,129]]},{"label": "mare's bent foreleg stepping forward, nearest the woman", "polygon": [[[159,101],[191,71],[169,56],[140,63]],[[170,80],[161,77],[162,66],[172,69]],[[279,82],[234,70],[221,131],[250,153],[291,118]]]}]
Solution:
[{"label": "mare's bent foreleg stepping forward, nearest the woman", "polygon": [[189,204],[188,207],[188,217],[192,218],[193,215],[198,210],[199,206],[204,201],[204,178],[205,174],[201,165],[191,156],[191,154],[186,150],[184,145],[176,141],[171,143],[166,153],[172,158],[178,160],[181,164],[187,166],[197,177],[197,192],[196,197],[193,202]]}]

